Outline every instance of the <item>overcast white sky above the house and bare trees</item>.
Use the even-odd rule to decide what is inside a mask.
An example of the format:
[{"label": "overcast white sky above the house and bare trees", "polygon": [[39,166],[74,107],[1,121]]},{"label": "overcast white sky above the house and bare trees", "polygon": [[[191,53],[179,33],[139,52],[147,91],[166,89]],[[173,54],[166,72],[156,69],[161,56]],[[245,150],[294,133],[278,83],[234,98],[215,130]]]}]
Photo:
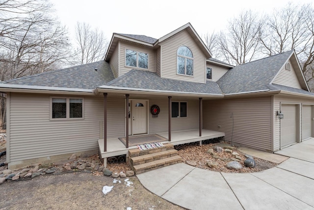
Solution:
[{"label": "overcast white sky above the house and bare trees", "polygon": [[[290,0],[294,4],[313,0]],[[186,23],[202,36],[225,29],[228,20],[242,10],[272,12],[288,0],[52,0],[61,23],[74,34],[77,22],[112,33],[129,33],[160,38]]]}]

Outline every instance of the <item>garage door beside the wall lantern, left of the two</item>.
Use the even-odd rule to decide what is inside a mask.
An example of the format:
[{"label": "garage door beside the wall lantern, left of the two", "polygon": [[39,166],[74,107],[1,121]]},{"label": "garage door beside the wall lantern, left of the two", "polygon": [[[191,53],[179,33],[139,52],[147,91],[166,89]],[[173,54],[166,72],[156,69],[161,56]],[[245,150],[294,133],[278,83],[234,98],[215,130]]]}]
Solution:
[{"label": "garage door beside the wall lantern, left of the two", "polygon": [[281,111],[284,114],[284,119],[280,120],[280,145],[283,148],[296,142],[296,106],[293,104],[283,104]]}]

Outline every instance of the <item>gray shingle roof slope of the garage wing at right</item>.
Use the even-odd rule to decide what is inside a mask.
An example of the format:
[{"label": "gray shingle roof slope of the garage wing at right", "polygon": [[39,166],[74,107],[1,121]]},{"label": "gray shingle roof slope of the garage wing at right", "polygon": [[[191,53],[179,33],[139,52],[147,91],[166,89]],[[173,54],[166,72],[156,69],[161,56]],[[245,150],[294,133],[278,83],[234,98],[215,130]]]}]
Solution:
[{"label": "gray shingle roof slope of the garage wing at right", "polygon": [[293,50],[235,66],[217,83],[225,94],[268,90],[267,86],[292,52]]}]

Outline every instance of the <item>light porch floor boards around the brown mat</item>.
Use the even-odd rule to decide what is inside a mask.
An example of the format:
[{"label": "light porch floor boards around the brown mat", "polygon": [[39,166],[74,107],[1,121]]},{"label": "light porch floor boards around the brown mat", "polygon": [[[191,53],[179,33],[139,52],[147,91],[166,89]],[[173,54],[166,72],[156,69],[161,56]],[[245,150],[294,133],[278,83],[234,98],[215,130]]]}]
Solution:
[{"label": "light porch floor boards around the brown mat", "polygon": [[[158,135],[168,139],[168,132],[157,133]],[[173,145],[180,145],[190,142],[199,142],[207,139],[213,139],[225,136],[224,132],[202,129],[202,136],[199,136],[199,130],[184,130],[184,131],[173,131],[171,132],[171,142],[163,141],[162,143],[171,143]],[[107,151],[104,152],[104,139],[98,140],[98,146],[100,153],[102,154],[102,158],[112,157],[117,155],[128,154],[130,149],[137,148],[136,146],[132,146],[126,148],[126,146],[118,139],[112,138],[107,139]]]}]

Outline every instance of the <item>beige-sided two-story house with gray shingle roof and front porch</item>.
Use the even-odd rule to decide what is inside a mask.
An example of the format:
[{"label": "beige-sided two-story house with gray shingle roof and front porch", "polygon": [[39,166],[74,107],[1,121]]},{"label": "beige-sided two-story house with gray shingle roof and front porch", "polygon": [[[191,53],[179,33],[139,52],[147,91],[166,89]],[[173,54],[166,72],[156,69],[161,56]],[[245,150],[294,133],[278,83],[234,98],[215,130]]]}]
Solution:
[{"label": "beige-sided two-story house with gray shingle roof and front porch", "polygon": [[155,39],[114,33],[105,60],[0,83],[7,162],[127,154],[152,141],[224,137],[274,152],[313,137],[314,94],[293,50],[243,65],[212,58],[188,23]]}]

